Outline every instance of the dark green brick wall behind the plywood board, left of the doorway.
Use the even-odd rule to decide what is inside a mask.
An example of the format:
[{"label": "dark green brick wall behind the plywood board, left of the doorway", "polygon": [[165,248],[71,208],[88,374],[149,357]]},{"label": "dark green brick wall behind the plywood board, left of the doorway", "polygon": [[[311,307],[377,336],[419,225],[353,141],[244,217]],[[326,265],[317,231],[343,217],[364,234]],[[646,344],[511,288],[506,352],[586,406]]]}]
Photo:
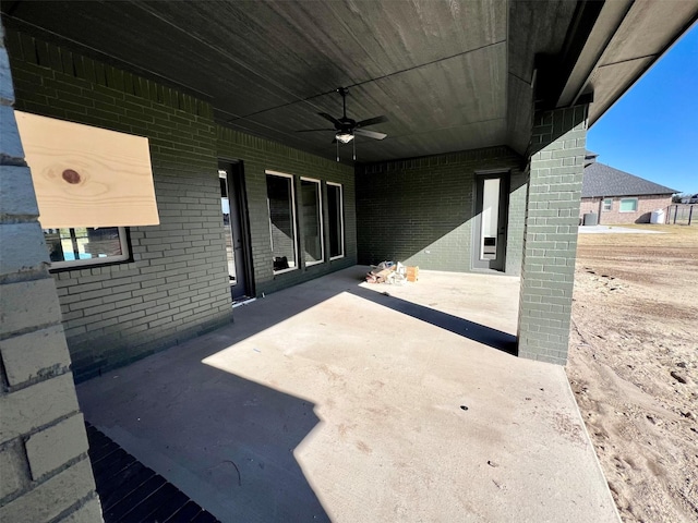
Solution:
[{"label": "dark green brick wall behind the plywood board, left of the doorway", "polygon": [[56,272],[77,380],[231,318],[208,102],[8,32],[16,108],[146,136],[160,226],[131,228],[128,264]]}]

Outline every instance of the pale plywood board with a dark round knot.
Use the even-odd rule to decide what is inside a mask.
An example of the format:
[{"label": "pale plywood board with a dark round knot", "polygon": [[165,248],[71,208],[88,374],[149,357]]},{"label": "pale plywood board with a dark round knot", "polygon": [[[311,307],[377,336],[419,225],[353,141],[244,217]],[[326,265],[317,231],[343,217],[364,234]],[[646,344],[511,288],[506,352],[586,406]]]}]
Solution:
[{"label": "pale plywood board with a dark round knot", "polygon": [[44,229],[159,223],[147,138],[15,114]]}]

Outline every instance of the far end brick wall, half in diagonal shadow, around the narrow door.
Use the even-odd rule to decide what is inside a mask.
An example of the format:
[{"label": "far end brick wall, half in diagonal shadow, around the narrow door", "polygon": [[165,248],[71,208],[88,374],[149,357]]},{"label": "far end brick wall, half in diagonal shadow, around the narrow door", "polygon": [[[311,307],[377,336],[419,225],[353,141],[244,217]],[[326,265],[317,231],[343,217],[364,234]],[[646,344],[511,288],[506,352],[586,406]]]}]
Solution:
[{"label": "far end brick wall, half in diagonal shadow, around the narrow door", "polygon": [[357,168],[359,262],[471,270],[477,171],[509,171],[506,272],[518,275],[526,203],[521,159],[491,147]]}]

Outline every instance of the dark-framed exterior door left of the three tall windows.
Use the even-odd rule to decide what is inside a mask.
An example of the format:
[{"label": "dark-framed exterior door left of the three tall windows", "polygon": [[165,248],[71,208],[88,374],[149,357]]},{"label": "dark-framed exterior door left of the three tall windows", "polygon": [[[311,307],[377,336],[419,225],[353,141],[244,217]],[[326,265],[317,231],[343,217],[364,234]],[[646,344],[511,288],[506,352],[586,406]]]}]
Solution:
[{"label": "dark-framed exterior door left of the three tall windows", "polygon": [[244,198],[242,163],[220,162],[220,206],[226,230],[228,277],[233,302],[252,295],[249,254],[249,223]]}]

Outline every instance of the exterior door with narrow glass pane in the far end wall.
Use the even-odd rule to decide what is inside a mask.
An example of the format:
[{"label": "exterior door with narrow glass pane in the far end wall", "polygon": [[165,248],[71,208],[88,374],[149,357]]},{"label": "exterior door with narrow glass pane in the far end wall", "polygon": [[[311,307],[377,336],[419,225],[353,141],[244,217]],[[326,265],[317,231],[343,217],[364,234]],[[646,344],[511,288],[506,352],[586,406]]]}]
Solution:
[{"label": "exterior door with narrow glass pane in the far end wall", "polygon": [[476,175],[472,268],[504,271],[509,173]]}]

